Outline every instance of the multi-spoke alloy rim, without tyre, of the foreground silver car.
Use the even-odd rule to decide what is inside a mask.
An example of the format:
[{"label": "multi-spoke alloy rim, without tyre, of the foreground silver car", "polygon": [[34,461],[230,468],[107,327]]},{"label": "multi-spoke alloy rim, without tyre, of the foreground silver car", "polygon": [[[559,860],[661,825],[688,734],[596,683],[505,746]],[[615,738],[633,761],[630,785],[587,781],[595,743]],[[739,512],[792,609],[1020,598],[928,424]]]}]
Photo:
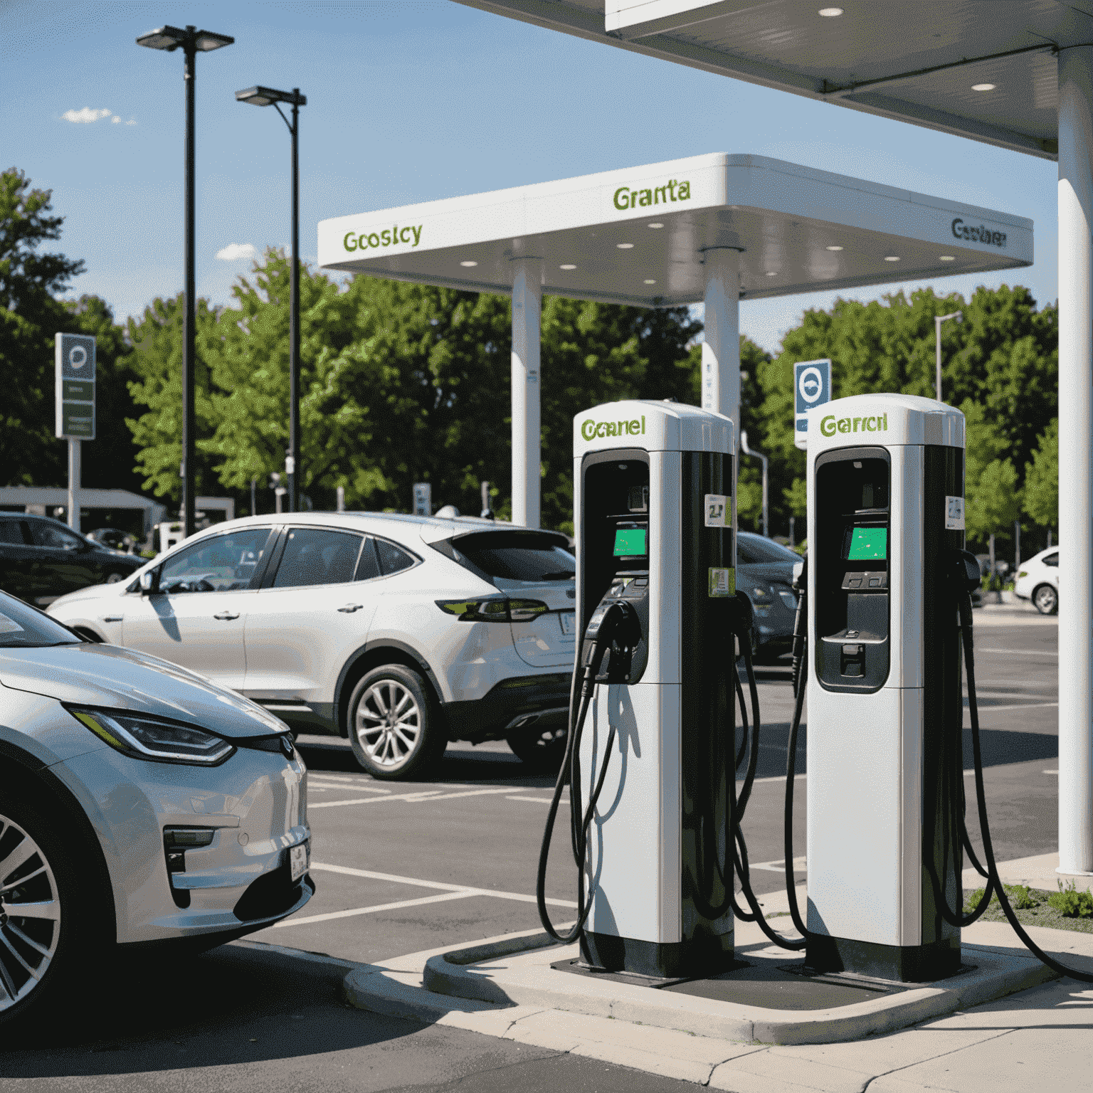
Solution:
[{"label": "multi-spoke alloy rim, without tyre, of the foreground silver car", "polygon": [[60,933],[60,897],[45,851],[0,814],[0,1012],[38,986]]}]

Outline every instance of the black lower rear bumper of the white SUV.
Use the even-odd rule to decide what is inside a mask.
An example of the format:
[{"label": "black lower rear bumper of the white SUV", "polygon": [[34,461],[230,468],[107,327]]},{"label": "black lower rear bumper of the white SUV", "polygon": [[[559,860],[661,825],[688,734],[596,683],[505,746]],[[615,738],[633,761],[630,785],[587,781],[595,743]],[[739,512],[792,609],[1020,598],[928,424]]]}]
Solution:
[{"label": "black lower rear bumper of the white SUV", "polygon": [[518,675],[502,680],[482,698],[444,705],[453,740],[504,740],[514,732],[540,731],[564,724],[569,712],[569,672]]}]

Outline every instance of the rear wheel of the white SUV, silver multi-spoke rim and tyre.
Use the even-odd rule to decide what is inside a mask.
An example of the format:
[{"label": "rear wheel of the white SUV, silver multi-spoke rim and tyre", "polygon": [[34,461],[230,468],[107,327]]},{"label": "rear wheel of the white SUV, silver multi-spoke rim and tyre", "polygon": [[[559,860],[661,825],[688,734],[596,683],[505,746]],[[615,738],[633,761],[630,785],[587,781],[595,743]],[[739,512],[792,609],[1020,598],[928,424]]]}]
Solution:
[{"label": "rear wheel of the white SUV, silver multi-spoke rim and tyre", "polygon": [[444,754],[447,738],[425,681],[402,665],[365,674],[348,716],[353,754],[374,778],[420,777]]}]

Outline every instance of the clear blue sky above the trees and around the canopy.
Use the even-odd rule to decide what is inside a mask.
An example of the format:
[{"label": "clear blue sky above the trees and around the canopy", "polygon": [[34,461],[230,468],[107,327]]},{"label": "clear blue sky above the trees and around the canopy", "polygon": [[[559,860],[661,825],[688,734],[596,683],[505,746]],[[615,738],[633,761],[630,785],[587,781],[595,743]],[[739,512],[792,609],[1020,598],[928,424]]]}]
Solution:
[{"label": "clear blue sky above the trees and around the canopy", "polygon": [[[705,152],[751,152],[1029,216],[1036,263],[935,282],[1057,296],[1054,163],[692,71],[465,8],[407,2],[0,0],[2,166],[52,189],[60,247],[118,318],[183,285],[183,60],[141,49],[171,23],[235,45],[198,57],[198,293],[231,302],[246,254],[289,242],[289,134],[234,101],[299,86],[301,250],[319,220]],[[94,120],[79,120],[90,118]],[[77,119],[77,120],[71,120]],[[232,249],[232,245],[236,245]],[[892,286],[845,295],[870,299]],[[835,294],[744,302],[741,330],[777,351]]]}]

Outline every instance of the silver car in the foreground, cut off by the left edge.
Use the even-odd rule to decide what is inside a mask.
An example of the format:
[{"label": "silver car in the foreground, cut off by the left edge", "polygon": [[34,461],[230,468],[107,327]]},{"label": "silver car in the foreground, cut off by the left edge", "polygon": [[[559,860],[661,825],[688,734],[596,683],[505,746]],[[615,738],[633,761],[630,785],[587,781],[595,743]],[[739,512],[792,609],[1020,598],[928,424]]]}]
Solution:
[{"label": "silver car in the foreground, cut off by the left edge", "polygon": [[115,945],[211,948],[314,892],[282,721],[3,592],[0,755],[0,1025],[85,997]]}]

